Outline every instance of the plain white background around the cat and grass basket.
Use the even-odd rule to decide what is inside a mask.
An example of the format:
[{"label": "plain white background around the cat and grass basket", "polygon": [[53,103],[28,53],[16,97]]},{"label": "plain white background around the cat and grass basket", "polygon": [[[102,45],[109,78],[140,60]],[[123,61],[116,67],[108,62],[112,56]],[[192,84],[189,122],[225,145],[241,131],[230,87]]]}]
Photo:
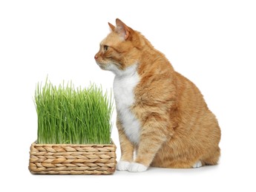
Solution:
[{"label": "plain white background around the cat and grass basket", "polygon": [[[253,1],[0,1],[0,191],[255,191],[256,6]],[[93,56],[120,18],[203,92],[222,129],[220,165],[112,176],[38,176],[37,82],[111,89]],[[113,117],[113,121],[115,117]],[[116,127],[112,138],[119,140]],[[3,188],[5,188],[3,190]]]}]

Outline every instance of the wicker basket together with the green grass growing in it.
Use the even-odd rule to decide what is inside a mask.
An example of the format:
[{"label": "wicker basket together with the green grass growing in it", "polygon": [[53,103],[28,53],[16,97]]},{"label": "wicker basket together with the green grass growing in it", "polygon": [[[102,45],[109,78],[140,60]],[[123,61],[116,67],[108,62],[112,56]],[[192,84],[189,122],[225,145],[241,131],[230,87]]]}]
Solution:
[{"label": "wicker basket together with the green grass growing in it", "polygon": [[32,174],[113,174],[116,145],[111,140],[113,102],[96,85],[37,84],[34,97],[37,140],[30,146]]}]

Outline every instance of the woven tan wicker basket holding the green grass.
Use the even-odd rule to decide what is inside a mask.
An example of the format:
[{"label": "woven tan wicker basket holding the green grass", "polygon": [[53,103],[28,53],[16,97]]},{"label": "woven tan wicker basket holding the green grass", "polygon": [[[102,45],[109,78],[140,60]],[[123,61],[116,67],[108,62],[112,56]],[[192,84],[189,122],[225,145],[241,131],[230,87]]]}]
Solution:
[{"label": "woven tan wicker basket holding the green grass", "polygon": [[114,174],[116,145],[36,144],[30,146],[32,174]]}]

